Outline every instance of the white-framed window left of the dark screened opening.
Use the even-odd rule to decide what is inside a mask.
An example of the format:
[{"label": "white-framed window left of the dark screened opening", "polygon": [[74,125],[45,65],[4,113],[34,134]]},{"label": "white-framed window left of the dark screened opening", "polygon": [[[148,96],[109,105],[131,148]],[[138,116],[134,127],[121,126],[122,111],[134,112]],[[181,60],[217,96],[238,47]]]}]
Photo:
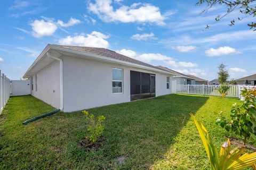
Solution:
[{"label": "white-framed window left of the dark screened opening", "polygon": [[112,92],[113,94],[123,92],[123,69],[112,68]]}]

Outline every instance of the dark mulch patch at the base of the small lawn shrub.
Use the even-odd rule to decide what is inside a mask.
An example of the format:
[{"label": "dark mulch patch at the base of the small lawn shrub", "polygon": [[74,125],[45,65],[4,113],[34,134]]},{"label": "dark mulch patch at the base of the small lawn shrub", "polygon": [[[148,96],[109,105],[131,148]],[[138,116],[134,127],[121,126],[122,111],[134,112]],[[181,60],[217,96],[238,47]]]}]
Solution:
[{"label": "dark mulch patch at the base of the small lawn shrub", "polygon": [[78,143],[78,146],[85,149],[85,150],[92,150],[92,149],[98,149],[103,146],[106,139],[103,137],[100,137],[98,141],[92,142],[88,137],[85,137],[84,140]]}]

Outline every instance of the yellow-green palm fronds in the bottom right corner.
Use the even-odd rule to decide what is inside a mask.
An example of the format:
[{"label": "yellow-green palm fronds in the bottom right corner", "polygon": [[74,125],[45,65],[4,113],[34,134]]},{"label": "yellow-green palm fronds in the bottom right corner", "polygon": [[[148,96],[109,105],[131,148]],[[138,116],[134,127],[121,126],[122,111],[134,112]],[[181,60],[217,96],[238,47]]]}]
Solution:
[{"label": "yellow-green palm fronds in the bottom right corner", "polygon": [[242,155],[244,148],[235,148],[231,150],[230,141],[228,139],[223,143],[219,155],[204,125],[202,123],[198,123],[196,117],[192,113],[190,113],[190,115],[193,118],[199,135],[203,141],[212,170],[238,170],[245,169],[249,166],[252,166],[253,169],[256,169],[254,165],[256,163],[256,152],[253,152],[252,154],[245,153]]}]

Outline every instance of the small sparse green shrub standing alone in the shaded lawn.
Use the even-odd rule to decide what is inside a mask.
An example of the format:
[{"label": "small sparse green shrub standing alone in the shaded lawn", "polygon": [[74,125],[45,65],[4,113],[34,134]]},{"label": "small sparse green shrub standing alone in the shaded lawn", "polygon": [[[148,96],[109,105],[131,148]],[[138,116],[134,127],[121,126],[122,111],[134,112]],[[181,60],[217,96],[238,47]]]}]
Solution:
[{"label": "small sparse green shrub standing alone in the shaded lawn", "polygon": [[87,132],[89,133],[89,140],[94,143],[98,141],[103,134],[104,126],[102,123],[105,120],[105,116],[98,116],[98,120],[95,120],[93,114],[90,114],[87,111],[82,112],[85,114],[86,120],[89,124],[87,128]]}]

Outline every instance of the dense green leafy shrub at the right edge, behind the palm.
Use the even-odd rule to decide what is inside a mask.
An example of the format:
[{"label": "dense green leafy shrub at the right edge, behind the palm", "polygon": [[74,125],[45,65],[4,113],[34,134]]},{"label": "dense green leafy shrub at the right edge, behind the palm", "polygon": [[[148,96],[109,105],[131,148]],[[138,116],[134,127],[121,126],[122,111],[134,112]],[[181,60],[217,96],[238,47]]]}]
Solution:
[{"label": "dense green leafy shrub at the right edge, behind the palm", "polygon": [[231,120],[227,120],[222,116],[217,118],[216,123],[226,129],[228,132],[232,132],[240,135],[244,139],[255,137],[256,135],[256,89],[248,90],[244,87],[241,90],[241,96],[244,97],[244,102],[241,105],[233,104],[231,109]]}]

